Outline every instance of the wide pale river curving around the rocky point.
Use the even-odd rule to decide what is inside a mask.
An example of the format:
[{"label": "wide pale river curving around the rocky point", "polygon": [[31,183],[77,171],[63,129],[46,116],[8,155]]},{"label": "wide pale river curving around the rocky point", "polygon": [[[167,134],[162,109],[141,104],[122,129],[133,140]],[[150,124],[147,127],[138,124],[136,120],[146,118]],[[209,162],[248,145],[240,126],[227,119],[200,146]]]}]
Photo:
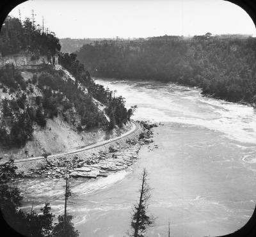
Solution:
[{"label": "wide pale river curving around the rocky point", "polygon": [[[142,146],[136,164],[107,178],[70,179],[68,213],[79,236],[125,236],[132,204],[138,200],[143,167],[152,188],[148,213],[156,217],[146,236],[216,236],[242,227],[256,204],[256,112],[252,107],[200,95],[200,89],[153,81],[102,80],[133,119],[161,123],[154,142]],[[156,148],[156,146],[158,148]],[[63,180],[27,179],[18,183],[23,208],[35,199],[39,210],[51,203],[63,213]]]}]

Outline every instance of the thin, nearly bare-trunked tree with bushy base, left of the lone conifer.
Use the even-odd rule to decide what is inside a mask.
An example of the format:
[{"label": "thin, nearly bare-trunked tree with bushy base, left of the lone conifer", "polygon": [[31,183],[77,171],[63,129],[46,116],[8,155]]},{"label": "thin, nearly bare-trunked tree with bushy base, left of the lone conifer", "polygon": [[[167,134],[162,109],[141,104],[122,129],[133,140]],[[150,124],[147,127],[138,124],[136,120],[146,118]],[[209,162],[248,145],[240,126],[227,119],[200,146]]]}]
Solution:
[{"label": "thin, nearly bare-trunked tree with bushy base, left of the lone conifer", "polygon": [[71,190],[68,185],[68,174],[66,169],[65,175],[66,185],[65,185],[65,208],[64,215],[58,216],[58,223],[52,229],[52,236],[54,237],[77,237],[79,236],[79,232],[74,228],[74,224],[71,222],[73,216],[67,214],[67,201],[68,197],[71,197]]}]

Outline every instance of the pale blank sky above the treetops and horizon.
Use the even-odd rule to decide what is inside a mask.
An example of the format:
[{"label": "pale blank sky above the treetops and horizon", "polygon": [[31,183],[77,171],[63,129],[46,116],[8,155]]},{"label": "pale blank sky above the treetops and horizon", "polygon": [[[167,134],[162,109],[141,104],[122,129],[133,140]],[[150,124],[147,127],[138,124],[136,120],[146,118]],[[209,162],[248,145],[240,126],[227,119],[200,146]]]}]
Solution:
[{"label": "pale blank sky above the treetops and horizon", "polygon": [[147,38],[150,36],[253,34],[250,16],[222,0],[29,0],[9,15],[35,11],[37,24],[58,38]]}]

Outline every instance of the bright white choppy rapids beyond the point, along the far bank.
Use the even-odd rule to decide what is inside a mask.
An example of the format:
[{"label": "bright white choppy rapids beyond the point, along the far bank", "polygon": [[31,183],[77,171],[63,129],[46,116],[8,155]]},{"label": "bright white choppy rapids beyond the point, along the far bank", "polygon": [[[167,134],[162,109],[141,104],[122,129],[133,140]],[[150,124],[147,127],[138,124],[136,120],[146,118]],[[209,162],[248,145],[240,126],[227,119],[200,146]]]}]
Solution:
[{"label": "bright white choppy rapids beyond the point, along the far bank", "polygon": [[127,105],[138,105],[134,119],[184,123],[221,132],[239,142],[256,143],[253,107],[200,95],[200,89],[171,83],[99,80],[116,89]]}]

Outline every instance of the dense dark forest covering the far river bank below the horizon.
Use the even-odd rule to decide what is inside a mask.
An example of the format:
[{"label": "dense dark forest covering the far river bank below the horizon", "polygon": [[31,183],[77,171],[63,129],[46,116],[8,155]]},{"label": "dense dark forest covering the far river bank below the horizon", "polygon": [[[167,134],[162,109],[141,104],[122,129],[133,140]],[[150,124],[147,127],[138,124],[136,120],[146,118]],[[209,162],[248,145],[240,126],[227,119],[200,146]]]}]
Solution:
[{"label": "dense dark forest covering the far river bank below the horizon", "polygon": [[256,39],[83,45],[77,58],[94,76],[153,79],[202,88],[230,102],[256,102]]}]

